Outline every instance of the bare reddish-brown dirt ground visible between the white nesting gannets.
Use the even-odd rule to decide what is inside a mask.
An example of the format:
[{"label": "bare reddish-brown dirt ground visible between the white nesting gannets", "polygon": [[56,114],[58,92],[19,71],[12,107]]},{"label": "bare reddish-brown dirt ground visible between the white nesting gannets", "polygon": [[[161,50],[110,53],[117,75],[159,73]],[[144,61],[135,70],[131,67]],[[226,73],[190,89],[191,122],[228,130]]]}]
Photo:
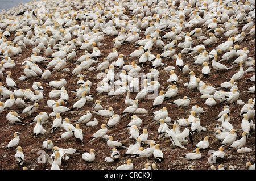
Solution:
[{"label": "bare reddish-brown dirt ground visible between the white nesting gannets", "polygon": [[[128,12],[127,12],[128,13]],[[219,27],[222,25],[219,24]],[[239,26],[239,32],[241,32],[243,24]],[[192,28],[187,28],[185,32],[190,32]],[[204,31],[205,28],[203,27],[203,35],[208,37],[208,33]],[[165,32],[162,32],[161,35],[164,35]],[[9,40],[13,40],[13,34],[11,37],[9,37]],[[145,36],[143,36],[143,33],[141,34],[141,39],[144,39]],[[103,42],[103,46],[99,47],[99,49],[102,52],[102,56],[99,58],[99,62],[102,62],[103,58],[108,55],[108,53],[112,52],[112,39],[114,36],[105,36],[105,40]],[[226,41],[228,37],[223,37],[222,39],[218,39],[216,43],[207,46],[206,49],[208,52],[210,50],[214,49],[218,44],[222,43],[223,41]],[[195,46],[199,45],[203,40],[195,40],[194,43]],[[164,40],[164,42],[167,44],[170,41]],[[248,47],[249,49],[249,57],[252,57],[255,59],[255,37],[248,36],[246,37],[245,40],[242,41],[240,45],[240,48],[243,47]],[[125,44],[122,46],[122,48],[118,49],[118,53],[125,54],[128,56],[130,52],[133,50],[138,49],[138,46],[135,46],[133,44]],[[175,54],[178,54],[181,51],[181,48],[175,47]],[[158,54],[161,53],[162,50],[158,49],[153,49],[152,53],[153,54]],[[18,63],[23,62],[24,58],[30,57],[30,53],[32,53],[32,48],[24,50],[20,55],[13,57],[13,59],[16,62],[15,68],[11,68],[10,71],[13,73],[11,78],[16,80],[16,84],[18,87],[22,89],[31,89],[32,90],[32,83],[39,81],[42,82],[42,86],[44,88],[44,93],[45,98],[41,102],[39,102],[39,110],[36,111],[35,115],[38,113],[45,111],[48,114],[52,112],[51,108],[46,107],[47,103],[46,100],[49,97],[49,92],[52,90],[52,87],[50,87],[47,83],[52,80],[59,80],[60,78],[65,78],[68,82],[67,86],[65,86],[65,89],[69,92],[69,101],[65,105],[67,107],[72,107],[73,103],[76,101],[75,100],[75,94],[72,94],[71,91],[77,88],[76,81],[78,80],[77,77],[72,76],[72,70],[75,68],[75,65],[73,62],[67,62],[67,68],[69,68],[71,71],[69,73],[61,73],[56,72],[52,74],[51,78],[49,78],[49,81],[43,81],[40,78],[30,78],[27,81],[18,81],[18,78],[20,75],[24,75],[23,73],[23,66],[19,65]],[[79,58],[83,53],[84,50],[78,50],[76,52],[76,58]],[[222,53],[223,54],[223,53]],[[222,54],[219,56],[222,56]],[[43,53],[42,56],[45,56]],[[192,58],[187,58],[184,55],[182,56],[184,65],[188,64],[191,65],[193,63]],[[49,61],[52,60],[52,58],[48,59]],[[125,64],[130,64],[131,61],[137,60],[137,58],[125,58]],[[167,60],[166,58],[162,59],[162,62],[165,62],[167,66],[172,65],[175,66],[175,60]],[[47,63],[40,64],[40,68],[44,69]],[[225,65],[230,65],[232,64],[232,61],[229,62],[224,62]],[[93,66],[97,66],[97,64],[94,64]],[[148,70],[150,70],[151,66],[150,65],[145,65],[142,68],[142,72],[147,73]],[[170,75],[168,71],[163,71],[163,68],[157,68],[160,71],[160,77],[159,77],[159,82],[162,85],[162,87],[166,88],[169,83],[167,83],[167,79]],[[201,74],[201,67],[200,66],[193,66],[191,67],[191,70],[195,72],[196,77],[202,79],[205,83],[208,85],[220,85],[220,83],[228,81],[229,78],[238,71],[239,67],[234,66],[232,70],[229,71],[220,71],[219,73],[214,73],[213,70],[211,70],[209,78],[204,79],[203,75]],[[247,67],[243,68],[244,70],[247,69]],[[96,117],[98,120],[98,125],[96,127],[86,127],[86,125],[80,124],[80,128],[82,129],[84,133],[84,145],[81,145],[79,142],[75,140],[75,137],[71,138],[71,141],[61,141],[58,140],[58,136],[60,136],[63,132],[64,129],[57,129],[57,131],[54,134],[51,134],[49,130],[52,127],[52,121],[55,119],[55,117],[49,117],[48,118],[48,123],[44,124],[43,127],[46,129],[47,133],[44,135],[40,135],[38,137],[33,137],[33,128],[34,124],[27,124],[26,126],[19,125],[19,124],[14,124],[11,125],[9,121],[6,120],[6,115],[8,112],[11,110],[6,110],[3,111],[0,115],[1,117],[1,123],[0,123],[0,165],[2,170],[20,170],[22,167],[18,166],[14,154],[15,150],[9,149],[9,150],[3,150],[5,146],[8,144],[8,142],[13,138],[13,133],[18,131],[22,133],[20,135],[20,143],[19,145],[22,146],[23,148],[23,153],[25,155],[25,165],[27,166],[28,169],[35,169],[35,170],[42,170],[43,169],[43,164],[38,162],[39,154],[38,151],[42,150],[40,147],[42,145],[42,141],[51,139],[55,146],[59,146],[60,148],[75,148],[75,149],[81,149],[82,151],[89,151],[90,149],[94,148],[97,151],[96,155],[96,161],[92,163],[86,163],[84,160],[81,158],[81,154],[73,155],[64,165],[61,165],[61,169],[67,169],[67,170],[98,170],[98,169],[115,169],[117,166],[122,165],[127,161],[127,159],[131,158],[134,162],[134,169],[143,169],[145,163],[156,163],[158,166],[158,169],[161,170],[184,170],[187,169],[189,165],[194,165],[195,169],[198,170],[208,170],[210,169],[210,166],[212,163],[208,162],[208,159],[210,157],[210,154],[208,153],[209,150],[218,150],[218,142],[216,141],[216,138],[214,138],[214,126],[216,125],[216,121],[214,119],[218,115],[220,111],[222,111],[222,108],[224,107],[224,104],[222,103],[217,103],[216,106],[214,107],[209,107],[204,104],[205,99],[200,99],[200,92],[199,91],[188,91],[187,88],[183,87],[183,84],[188,82],[189,78],[185,77],[182,72],[178,69],[175,70],[175,73],[179,76],[180,81],[177,83],[177,86],[179,87],[179,93],[177,96],[171,100],[175,100],[178,98],[182,98],[183,96],[188,96],[191,98],[191,104],[189,107],[185,108],[177,108],[176,106],[172,104],[168,104],[168,101],[164,101],[163,104],[161,104],[160,107],[155,108],[155,110],[159,110],[162,107],[167,107],[168,111],[168,116],[171,117],[171,120],[174,121],[176,119],[180,119],[182,117],[188,117],[189,116],[189,111],[191,111],[191,107],[194,106],[195,104],[199,105],[200,107],[203,107],[207,113],[204,113],[199,116],[201,120],[201,125],[203,127],[207,128],[207,131],[205,132],[199,132],[196,133],[195,136],[193,136],[193,142],[196,144],[197,142],[203,140],[205,136],[210,136],[209,138],[209,149],[202,150],[202,158],[199,160],[195,161],[185,161],[181,159],[180,157],[183,156],[184,154],[187,154],[189,152],[192,152],[195,148],[193,148],[191,142],[189,141],[188,145],[186,148],[187,150],[181,149],[181,148],[170,148],[170,140],[167,138],[163,140],[158,140],[158,125],[149,125],[150,119],[151,119],[151,114],[147,115],[138,115],[139,117],[142,118],[143,123],[141,125],[141,130],[140,133],[142,132],[143,128],[148,129],[149,133],[149,139],[155,140],[156,143],[159,143],[162,146],[162,151],[164,154],[164,161],[162,163],[157,162],[155,159],[147,159],[147,158],[131,158],[130,156],[128,157],[123,157],[123,155],[126,153],[126,149],[119,149],[119,152],[121,154],[121,158],[118,161],[115,161],[113,163],[106,163],[104,161],[105,157],[109,156],[110,148],[106,145],[105,140],[94,140],[93,142],[90,141],[90,137],[94,132],[96,132],[98,129],[100,129],[101,124],[107,123],[108,118],[104,118],[101,116],[98,116],[93,113],[93,117]],[[93,95],[93,102],[86,102],[85,106],[82,108],[81,111],[76,111],[73,114],[66,113],[64,115],[61,115],[63,119],[65,117],[68,117],[71,122],[78,119],[80,116],[84,115],[87,110],[93,110],[93,104],[94,101],[97,99],[101,100],[101,104],[104,108],[108,108],[109,106],[113,107],[113,110],[115,113],[122,113],[124,108],[126,107],[124,104],[125,101],[125,96],[113,96],[109,98],[107,95],[100,95],[96,91],[96,86],[99,80],[96,79],[96,73],[93,73],[92,71],[82,71],[82,74],[84,75],[84,79],[89,79],[91,82],[93,82],[92,89],[91,89],[91,94]],[[254,98],[254,94],[250,94],[248,92],[245,92],[249,87],[253,86],[255,82],[246,82],[248,78],[250,78],[255,72],[250,72],[246,73],[243,78],[238,82],[238,89],[241,91],[240,99],[243,100],[243,102],[247,103],[247,100],[249,98]],[[3,86],[6,86],[5,78],[2,80]],[[160,89],[159,89],[160,90]],[[226,90],[225,90],[226,91]],[[131,99],[135,98],[135,93],[131,92],[130,95]],[[57,100],[57,99],[56,99]],[[171,101],[169,100],[169,101]],[[146,108],[146,110],[150,110],[152,106],[153,99],[145,99],[144,101],[141,100],[139,101],[139,107],[141,108]],[[242,108],[242,106],[237,105],[237,104],[230,104],[231,107],[231,113],[230,117],[232,119],[232,124],[234,126],[234,129],[238,129],[238,138],[241,137],[241,120],[242,117],[238,117],[239,112]],[[21,112],[22,110],[18,110],[16,106],[12,108],[12,111],[17,111]],[[92,112],[92,111],[91,111]],[[152,113],[152,111],[148,111],[149,113]],[[23,115],[20,114],[20,116],[24,117],[24,123],[28,123],[32,117],[28,115]],[[130,122],[130,116],[131,115],[125,115],[118,123],[116,128],[109,128],[108,129],[108,135],[111,135],[114,137],[114,140],[121,141],[123,144],[134,144],[134,140],[129,139],[129,131],[124,130],[123,127],[125,127],[129,122]],[[254,120],[255,123],[255,120]],[[170,128],[172,126],[170,125]],[[181,128],[183,129],[183,128]],[[255,163],[255,131],[250,132],[251,136],[250,138],[247,139],[246,145],[247,147],[253,149],[251,153],[246,153],[246,154],[238,154],[236,150],[228,150],[224,148],[224,152],[226,153],[226,157],[222,159],[221,161],[218,161],[216,164],[214,164],[216,167],[223,163],[225,166],[233,165],[235,169],[239,170],[244,170],[246,169],[245,164],[246,162],[250,161],[252,163]],[[144,146],[146,148],[147,146]],[[46,153],[52,154],[52,151],[47,151],[45,150]],[[47,166],[47,169],[49,169],[50,166]]]}]

